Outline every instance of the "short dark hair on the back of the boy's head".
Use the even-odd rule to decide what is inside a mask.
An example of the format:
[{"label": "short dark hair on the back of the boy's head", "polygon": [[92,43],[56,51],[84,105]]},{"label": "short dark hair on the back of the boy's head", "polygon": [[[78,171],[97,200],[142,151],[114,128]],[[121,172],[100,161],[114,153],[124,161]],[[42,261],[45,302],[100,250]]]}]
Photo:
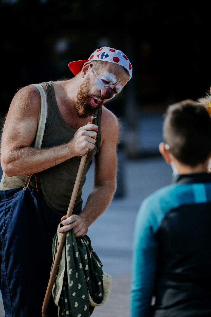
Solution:
[{"label": "short dark hair on the back of the boy's head", "polygon": [[205,106],[183,100],[167,108],[163,124],[164,141],[182,164],[196,166],[211,153],[211,118]]}]

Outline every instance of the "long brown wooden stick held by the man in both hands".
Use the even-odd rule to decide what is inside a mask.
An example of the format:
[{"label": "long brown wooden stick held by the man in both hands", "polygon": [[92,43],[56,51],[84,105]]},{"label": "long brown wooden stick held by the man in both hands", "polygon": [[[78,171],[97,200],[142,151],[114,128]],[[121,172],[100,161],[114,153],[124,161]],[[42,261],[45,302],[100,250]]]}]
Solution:
[{"label": "long brown wooden stick held by the man in both hands", "polygon": [[[95,124],[95,120],[96,120],[96,117],[91,117],[90,123],[91,124]],[[74,205],[75,205],[75,201],[76,201],[76,197],[77,197],[77,194],[78,194],[78,188],[79,188],[79,185],[80,185],[80,182],[81,182],[81,177],[82,177],[82,174],[83,174],[83,171],[84,171],[84,165],[85,165],[85,162],[86,162],[87,153],[88,152],[86,152],[81,157],[80,165],[79,165],[79,168],[78,168],[78,173],[77,173],[77,176],[76,176],[75,184],[74,184],[72,195],[71,195],[71,199],[70,199],[70,204],[69,204],[69,207],[68,207],[68,210],[67,210],[67,214],[66,214],[67,218],[72,215],[72,211],[73,211],[73,208],[74,208]],[[56,277],[56,274],[57,274],[57,270],[58,270],[58,267],[59,267],[59,262],[60,262],[60,259],[61,259],[62,250],[63,250],[63,246],[64,246],[64,243],[65,243],[66,235],[67,235],[67,231],[62,232],[61,238],[60,238],[60,241],[59,241],[59,245],[58,245],[58,249],[57,249],[57,252],[56,252],[56,256],[55,256],[55,259],[54,259],[54,262],[53,262],[53,268],[52,268],[52,271],[51,271],[50,279],[49,279],[48,286],[47,286],[46,295],[45,295],[45,298],[44,298],[44,301],[43,301],[43,305],[42,305],[42,316],[43,317],[48,317],[48,315],[47,315],[48,303],[49,303],[49,300],[50,300],[50,297],[51,297],[53,284],[54,284],[55,277]]]}]

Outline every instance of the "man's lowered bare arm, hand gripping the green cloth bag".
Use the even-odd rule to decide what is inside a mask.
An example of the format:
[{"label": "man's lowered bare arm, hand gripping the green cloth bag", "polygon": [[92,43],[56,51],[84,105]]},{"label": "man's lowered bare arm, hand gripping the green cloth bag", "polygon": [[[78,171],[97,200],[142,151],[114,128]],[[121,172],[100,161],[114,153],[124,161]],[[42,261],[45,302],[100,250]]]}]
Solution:
[{"label": "man's lowered bare arm, hand gripping the green cloth bag", "polygon": [[84,210],[79,215],[72,215],[67,219],[66,216],[62,217],[64,226],[60,231],[64,232],[74,228],[76,237],[84,236],[88,232],[90,224],[109,206],[116,189],[116,144],[119,126],[116,117],[111,113],[107,113],[106,121],[107,123],[101,129],[105,137],[95,159],[94,187]]}]

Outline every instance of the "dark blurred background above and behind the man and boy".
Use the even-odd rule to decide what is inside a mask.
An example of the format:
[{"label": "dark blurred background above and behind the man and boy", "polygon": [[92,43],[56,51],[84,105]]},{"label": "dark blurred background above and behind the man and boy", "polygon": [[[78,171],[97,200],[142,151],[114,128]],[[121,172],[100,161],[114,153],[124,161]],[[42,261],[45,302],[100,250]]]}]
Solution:
[{"label": "dark blurred background above and behind the man and boy", "polygon": [[107,104],[127,127],[129,156],[140,154],[142,113],[206,94],[210,77],[210,13],[203,2],[2,0],[1,116],[16,91],[71,78],[68,62],[97,48],[121,49],[133,77]]}]

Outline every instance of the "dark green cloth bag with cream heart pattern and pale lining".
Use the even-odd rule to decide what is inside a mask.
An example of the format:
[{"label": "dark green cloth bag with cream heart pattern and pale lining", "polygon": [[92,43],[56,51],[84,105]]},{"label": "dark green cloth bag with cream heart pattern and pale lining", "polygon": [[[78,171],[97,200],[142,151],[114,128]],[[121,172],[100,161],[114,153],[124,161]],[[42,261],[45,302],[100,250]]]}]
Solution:
[{"label": "dark green cloth bag with cream heart pattern and pale lining", "polygon": [[[61,233],[57,230],[53,239],[53,261],[60,237]],[[112,277],[103,272],[90,238],[76,238],[73,230],[68,231],[52,290],[53,300],[59,309],[58,316],[89,317],[94,307],[108,300],[111,284]]]}]

